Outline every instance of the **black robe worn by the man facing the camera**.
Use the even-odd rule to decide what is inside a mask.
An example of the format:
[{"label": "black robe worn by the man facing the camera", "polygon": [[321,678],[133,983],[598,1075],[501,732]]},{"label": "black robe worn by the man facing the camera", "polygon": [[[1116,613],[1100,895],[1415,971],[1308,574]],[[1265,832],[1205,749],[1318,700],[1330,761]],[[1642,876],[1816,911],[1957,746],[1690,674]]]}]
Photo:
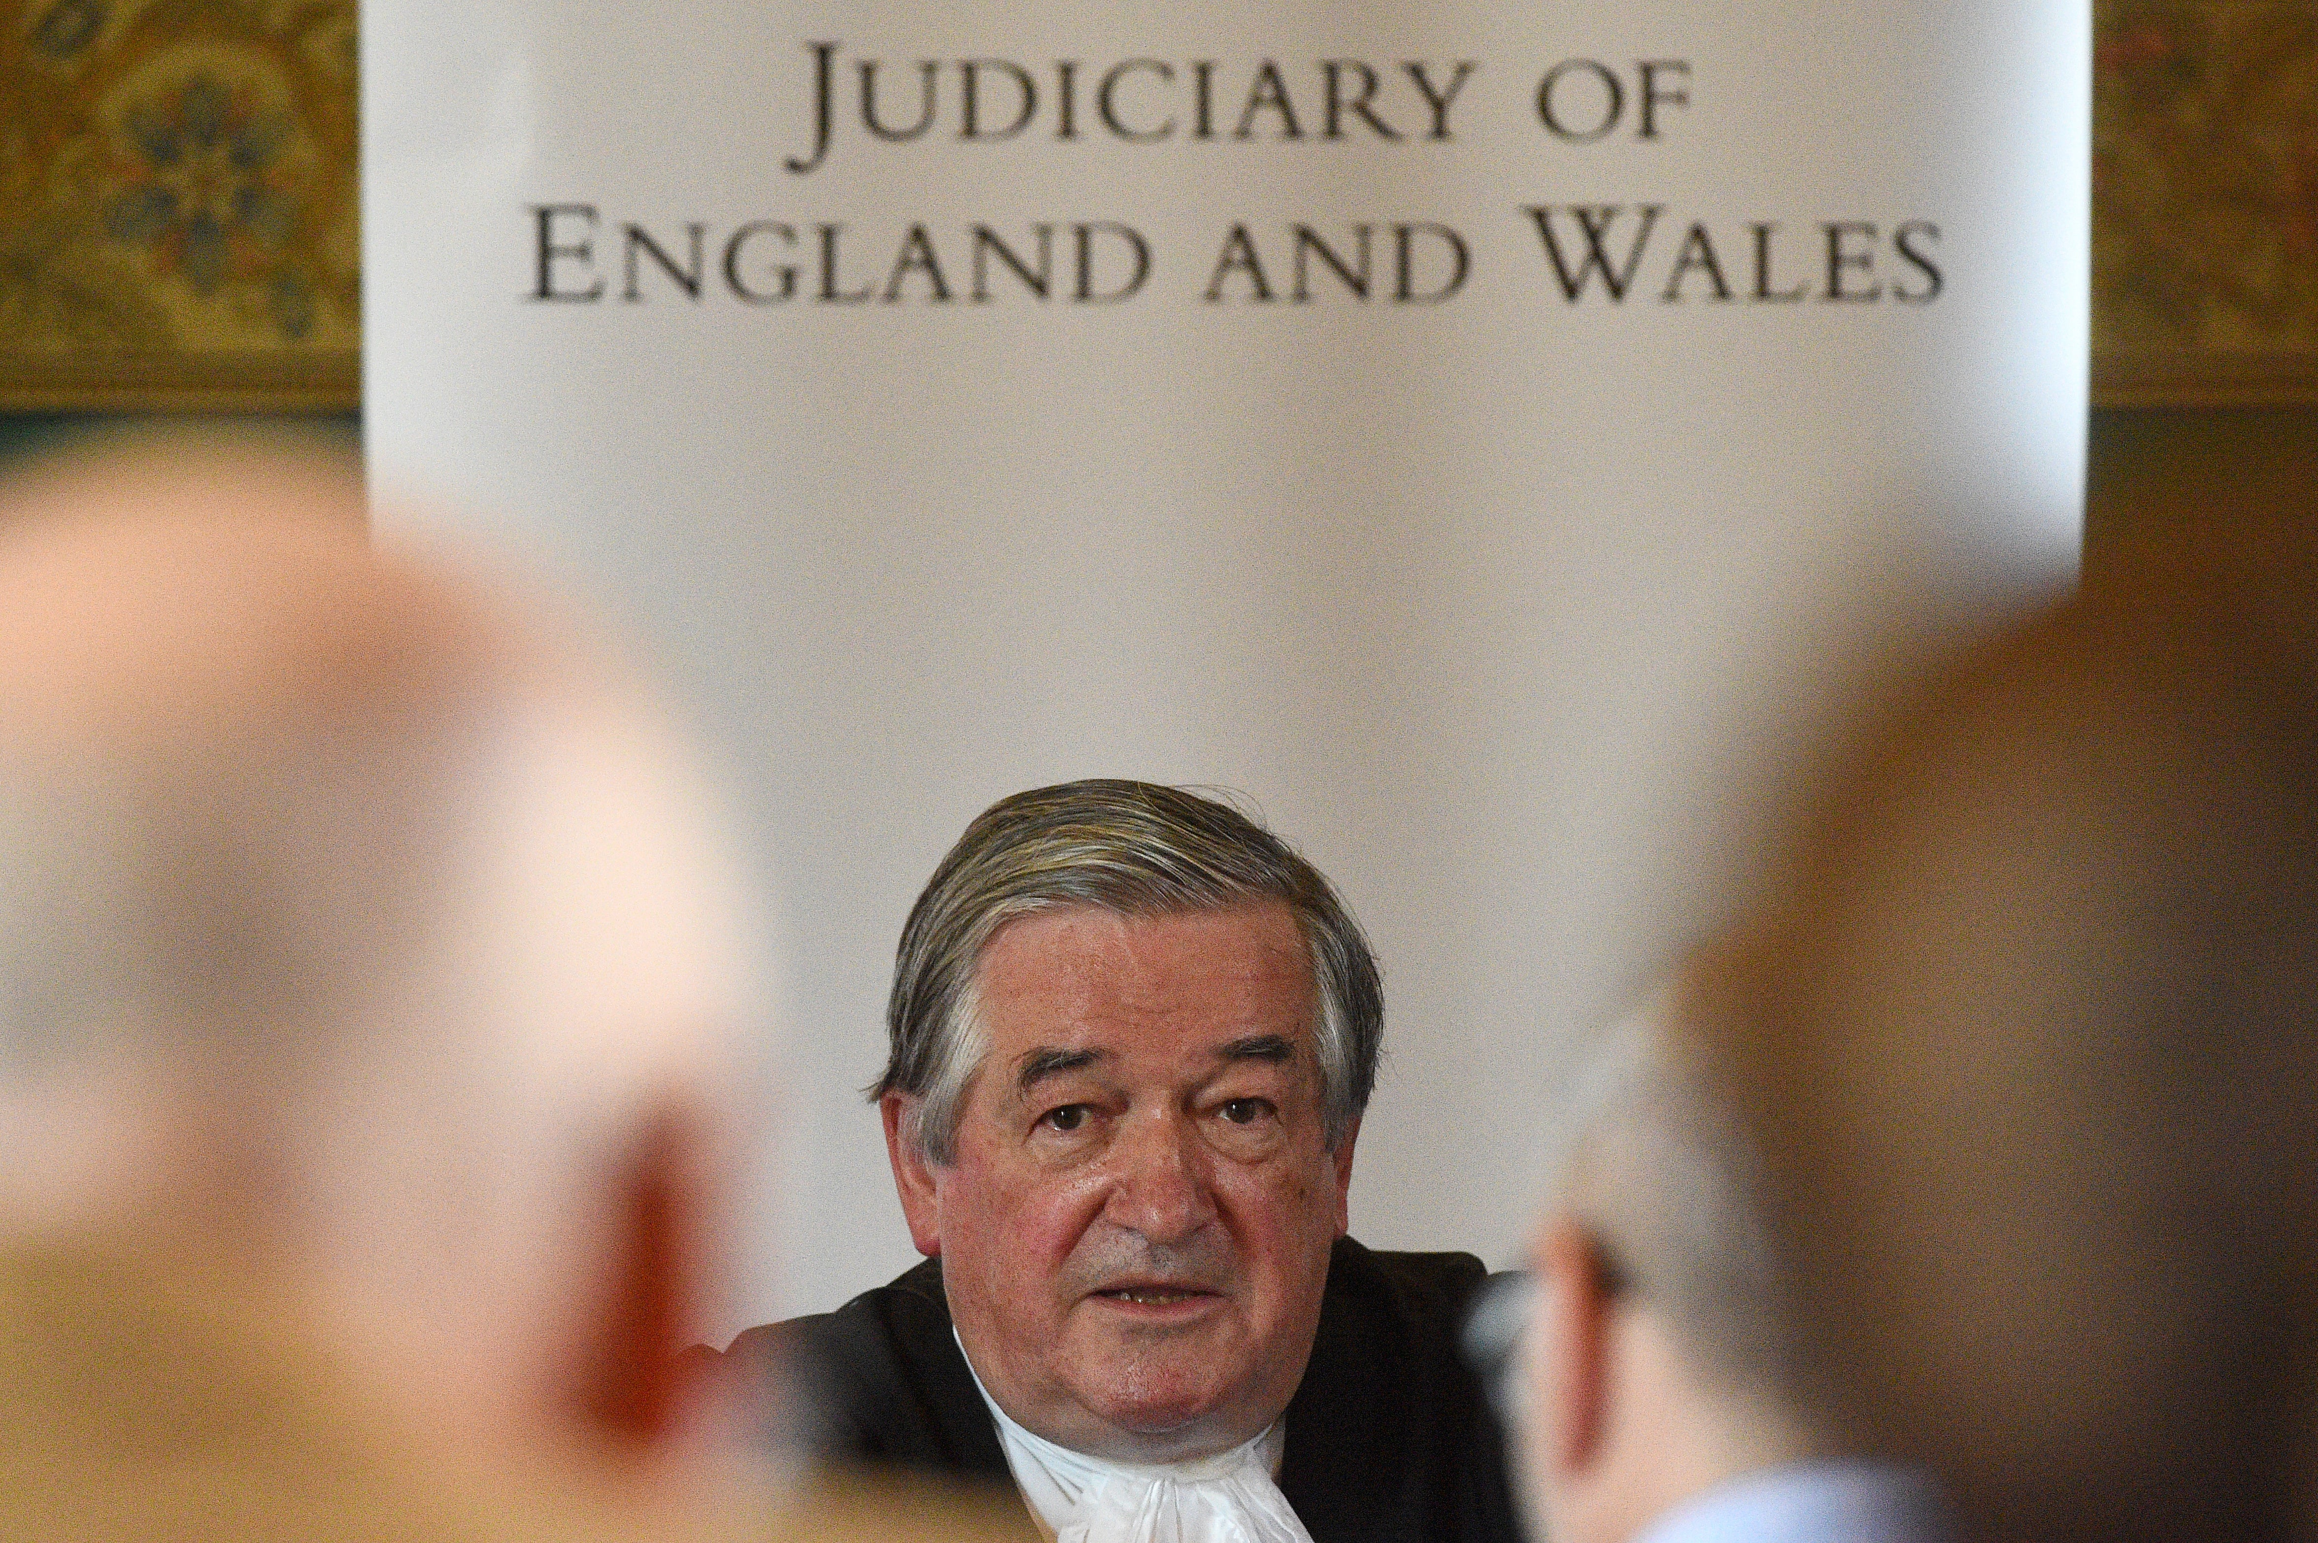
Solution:
[{"label": "black robe worn by the man facing the camera", "polygon": [[[1280,1467],[1280,1492],[1312,1543],[1521,1538],[1502,1432],[1458,1353],[1481,1281],[1470,1253],[1377,1253],[1337,1239]],[[941,1260],[834,1314],[749,1330],[723,1355],[726,1372],[744,1376],[781,1362],[828,1460],[1013,1483],[950,1334]]]}]

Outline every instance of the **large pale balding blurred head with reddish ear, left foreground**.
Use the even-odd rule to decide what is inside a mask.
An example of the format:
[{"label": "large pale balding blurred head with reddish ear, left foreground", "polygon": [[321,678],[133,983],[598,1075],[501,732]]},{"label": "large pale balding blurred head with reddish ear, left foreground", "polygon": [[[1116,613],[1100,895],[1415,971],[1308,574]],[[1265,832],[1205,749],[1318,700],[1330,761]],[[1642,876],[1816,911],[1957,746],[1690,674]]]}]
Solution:
[{"label": "large pale balding blurred head with reddish ear, left foreground", "polygon": [[[0,1404],[199,1383],[185,1325],[229,1344],[246,1314],[445,1462],[684,1450],[668,1365],[714,1277],[744,936],[633,677],[373,547],[348,473],[146,454],[19,484]],[[172,1328],[127,1351],[148,1297]],[[176,1392],[232,1432],[218,1385]]]}]

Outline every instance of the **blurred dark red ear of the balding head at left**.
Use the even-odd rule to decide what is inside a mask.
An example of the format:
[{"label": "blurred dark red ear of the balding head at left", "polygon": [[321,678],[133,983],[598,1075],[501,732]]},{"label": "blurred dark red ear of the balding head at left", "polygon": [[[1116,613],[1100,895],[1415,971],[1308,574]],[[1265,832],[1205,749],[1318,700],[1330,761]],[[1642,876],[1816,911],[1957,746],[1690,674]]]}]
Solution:
[{"label": "blurred dark red ear of the balding head at left", "polygon": [[584,1423],[635,1450],[677,1436],[698,1379],[693,1344],[709,1288],[712,1154],[691,1110],[658,1110],[605,1175],[610,1295],[580,1355]]}]

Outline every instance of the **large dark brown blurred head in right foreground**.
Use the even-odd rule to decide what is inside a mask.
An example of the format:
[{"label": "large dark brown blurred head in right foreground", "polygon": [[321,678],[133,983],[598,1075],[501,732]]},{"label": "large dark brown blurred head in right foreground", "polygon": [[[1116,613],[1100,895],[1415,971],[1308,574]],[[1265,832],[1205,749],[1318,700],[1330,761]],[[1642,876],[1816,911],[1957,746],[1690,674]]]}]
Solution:
[{"label": "large dark brown blurred head in right foreground", "polygon": [[1924,681],[1738,966],[1813,1385],[1982,1536],[2318,1531],[2313,602],[2255,533]]}]

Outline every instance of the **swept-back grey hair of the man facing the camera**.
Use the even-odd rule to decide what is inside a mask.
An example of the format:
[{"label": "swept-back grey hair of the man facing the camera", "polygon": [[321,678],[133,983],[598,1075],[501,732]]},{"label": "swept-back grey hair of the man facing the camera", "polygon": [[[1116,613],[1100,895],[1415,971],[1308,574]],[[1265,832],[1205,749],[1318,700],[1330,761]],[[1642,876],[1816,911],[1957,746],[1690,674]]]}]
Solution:
[{"label": "swept-back grey hair of the man facing the camera", "polygon": [[1120,778],[1018,792],[957,839],[902,927],[890,1054],[869,1096],[909,1094],[904,1140],[953,1163],[960,1105],[987,1052],[981,957],[1001,927],[1064,906],[1143,917],[1261,901],[1289,908],[1312,961],[1321,1121],[1335,1149],[1368,1107],[1384,1040],[1384,987],[1358,922],[1319,869],[1240,811]]}]

